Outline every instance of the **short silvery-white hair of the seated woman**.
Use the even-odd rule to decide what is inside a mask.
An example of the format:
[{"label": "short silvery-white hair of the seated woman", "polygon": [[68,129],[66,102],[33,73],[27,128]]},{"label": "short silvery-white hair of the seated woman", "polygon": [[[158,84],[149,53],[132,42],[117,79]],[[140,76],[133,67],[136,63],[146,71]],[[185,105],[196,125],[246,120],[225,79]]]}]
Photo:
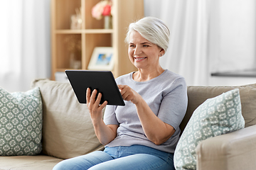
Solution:
[{"label": "short silvery-white hair of the seated woman", "polygon": [[159,46],[166,52],[169,45],[170,31],[166,24],[159,18],[147,16],[139,21],[129,24],[125,42],[129,43],[129,35],[136,30],[143,38]]}]

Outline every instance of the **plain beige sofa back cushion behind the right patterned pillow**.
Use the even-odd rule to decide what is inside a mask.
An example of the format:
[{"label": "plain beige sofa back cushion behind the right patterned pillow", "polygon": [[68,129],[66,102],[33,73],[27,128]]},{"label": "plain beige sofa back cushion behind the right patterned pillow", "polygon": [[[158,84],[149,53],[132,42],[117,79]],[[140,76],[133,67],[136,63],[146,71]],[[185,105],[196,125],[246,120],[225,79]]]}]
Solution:
[{"label": "plain beige sofa back cushion behind the right patterned pillow", "polygon": [[188,108],[180,128],[183,132],[193,111],[206,99],[213,98],[232,89],[239,89],[242,105],[242,116],[245,118],[245,127],[256,125],[256,84],[244,86],[188,86]]}]

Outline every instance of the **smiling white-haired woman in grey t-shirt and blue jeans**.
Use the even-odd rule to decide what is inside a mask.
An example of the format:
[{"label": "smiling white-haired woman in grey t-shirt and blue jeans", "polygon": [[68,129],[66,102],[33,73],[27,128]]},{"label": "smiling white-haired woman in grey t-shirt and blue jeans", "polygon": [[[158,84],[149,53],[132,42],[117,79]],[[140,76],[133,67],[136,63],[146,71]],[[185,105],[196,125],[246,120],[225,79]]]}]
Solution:
[{"label": "smiling white-haired woman in grey t-shirt and blue jeans", "polygon": [[116,79],[125,106],[100,105],[96,90],[86,94],[95,134],[105,150],[64,160],[54,169],[174,169],[188,98],[183,77],[159,64],[169,29],[158,18],[145,17],[129,25],[126,42],[138,71]]}]

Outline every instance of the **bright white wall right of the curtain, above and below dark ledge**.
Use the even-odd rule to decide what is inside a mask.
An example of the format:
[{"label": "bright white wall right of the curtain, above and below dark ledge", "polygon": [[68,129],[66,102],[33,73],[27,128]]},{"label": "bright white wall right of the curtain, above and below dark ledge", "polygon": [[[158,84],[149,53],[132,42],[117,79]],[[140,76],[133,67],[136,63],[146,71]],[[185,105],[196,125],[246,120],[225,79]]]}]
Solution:
[{"label": "bright white wall right of the curtain, above and below dark ledge", "polygon": [[[255,68],[255,0],[212,0],[209,71]],[[256,78],[210,77],[209,85],[256,83]]]}]

